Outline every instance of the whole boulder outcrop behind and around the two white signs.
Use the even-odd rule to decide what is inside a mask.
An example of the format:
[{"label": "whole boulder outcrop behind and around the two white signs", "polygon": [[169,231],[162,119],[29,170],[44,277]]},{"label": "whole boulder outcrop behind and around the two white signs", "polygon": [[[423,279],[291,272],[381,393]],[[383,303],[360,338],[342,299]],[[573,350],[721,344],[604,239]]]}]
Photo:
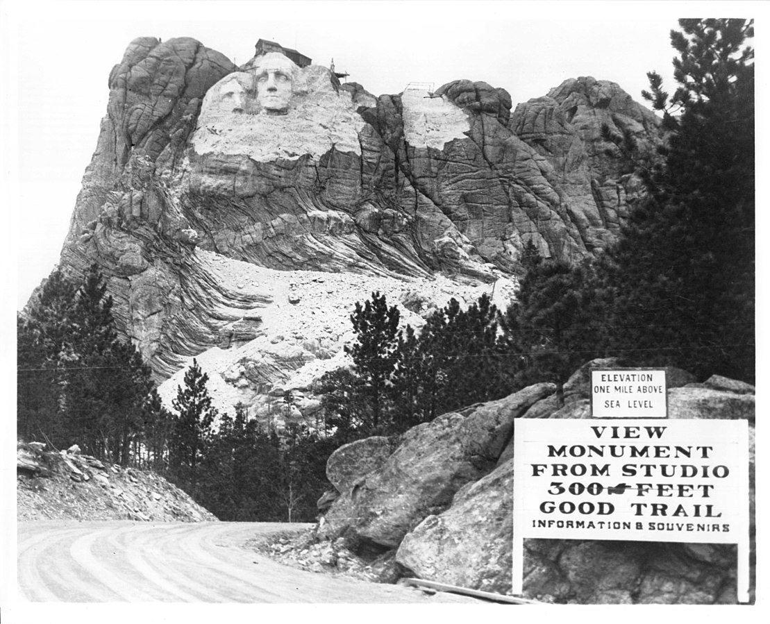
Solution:
[{"label": "whole boulder outcrop behind and around the two white signs", "polygon": [[[590,396],[591,365],[608,367],[615,360],[594,360],[578,369],[567,384],[567,405],[557,410],[552,387],[537,385],[507,399],[477,405],[463,414],[447,414],[418,425],[379,469],[352,482],[320,523],[322,539],[336,539],[371,556],[395,552],[402,576],[454,586],[511,593],[513,546],[514,455],[512,445],[498,442],[506,434],[484,414],[511,418],[561,418]],[[742,382],[714,377],[704,384],[688,382],[685,371],[668,371],[671,418],[746,419],[749,422],[750,536],[755,540],[754,393]],[[524,399],[527,397],[526,399]],[[590,405],[581,408],[590,415]],[[502,423],[500,419],[495,422]],[[502,425],[505,429],[507,425]],[[462,438],[460,432],[474,431]],[[500,429],[497,429],[499,432]],[[488,435],[484,435],[487,432]],[[476,460],[455,452],[463,439],[476,442]],[[466,461],[464,461],[464,459]],[[436,465],[446,467],[437,481]],[[322,542],[323,544],[323,542]],[[736,600],[736,550],[725,544],[524,540],[524,595],[547,602],[584,604],[715,604]],[[322,549],[323,546],[317,546]],[[752,555],[752,569],[754,566]],[[753,572],[752,572],[753,578]]]}]

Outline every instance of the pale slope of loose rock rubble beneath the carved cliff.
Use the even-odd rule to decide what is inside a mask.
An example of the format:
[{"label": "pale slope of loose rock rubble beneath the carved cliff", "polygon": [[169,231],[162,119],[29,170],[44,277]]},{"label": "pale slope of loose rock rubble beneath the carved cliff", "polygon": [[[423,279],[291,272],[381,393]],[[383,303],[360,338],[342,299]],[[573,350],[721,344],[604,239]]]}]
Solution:
[{"label": "pale slope of loose rock rubble beneath the carved cliff", "polygon": [[[386,295],[389,306],[397,305],[400,327],[412,325],[415,329],[425,321],[399,302],[402,292],[420,292],[439,309],[453,297],[467,308],[484,293],[492,295],[498,308],[504,309],[514,294],[513,282],[508,279],[494,284],[458,285],[440,275],[424,279],[347,272],[283,272],[203,249],[196,249],[196,255],[212,278],[226,289],[268,299],[266,305],[253,311],[253,315],[261,319],[261,335],[229,349],[213,347],[195,358],[209,375],[208,388],[214,397],[214,406],[220,413],[231,416],[235,415],[234,406],[238,402],[248,406],[249,415],[266,417],[280,412],[284,390],[309,389],[323,373],[349,365],[350,359],[343,347],[355,340],[350,314],[356,302],[370,299],[372,292]],[[290,292],[300,295],[300,301],[289,303]],[[234,310],[221,312],[234,313]],[[188,359],[189,364],[192,357]],[[169,409],[177,388],[184,385],[186,368],[159,387],[159,394]]]}]

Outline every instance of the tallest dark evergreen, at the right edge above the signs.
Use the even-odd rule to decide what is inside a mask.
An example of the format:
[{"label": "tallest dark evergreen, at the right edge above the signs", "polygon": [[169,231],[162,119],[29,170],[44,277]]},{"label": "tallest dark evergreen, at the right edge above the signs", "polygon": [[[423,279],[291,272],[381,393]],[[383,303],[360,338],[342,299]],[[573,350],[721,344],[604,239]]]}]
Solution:
[{"label": "tallest dark evergreen, at the right edge above the signs", "polygon": [[[647,202],[611,249],[612,352],[752,382],[754,359],[754,65],[752,22],[683,19],[671,32],[668,98],[645,97],[671,138]],[[679,113],[675,115],[675,113]]]}]

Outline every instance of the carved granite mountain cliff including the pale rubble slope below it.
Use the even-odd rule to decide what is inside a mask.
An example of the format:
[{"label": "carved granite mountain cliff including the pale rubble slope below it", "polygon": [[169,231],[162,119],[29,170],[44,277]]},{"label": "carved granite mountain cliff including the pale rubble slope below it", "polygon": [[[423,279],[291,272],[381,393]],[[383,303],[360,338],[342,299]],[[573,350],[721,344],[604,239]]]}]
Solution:
[{"label": "carved granite mountain cliff including the pale rubble slope below it", "polygon": [[[61,262],[75,276],[99,263],[159,379],[200,356],[253,413],[306,388],[296,372],[340,363],[319,361],[375,289],[505,305],[527,242],[567,260],[608,245],[638,183],[601,125],[659,139],[650,112],[594,78],[511,112],[483,82],[374,97],[265,58],[236,68],[193,39],[132,42]],[[284,108],[264,103],[270,72],[290,83]]]}]

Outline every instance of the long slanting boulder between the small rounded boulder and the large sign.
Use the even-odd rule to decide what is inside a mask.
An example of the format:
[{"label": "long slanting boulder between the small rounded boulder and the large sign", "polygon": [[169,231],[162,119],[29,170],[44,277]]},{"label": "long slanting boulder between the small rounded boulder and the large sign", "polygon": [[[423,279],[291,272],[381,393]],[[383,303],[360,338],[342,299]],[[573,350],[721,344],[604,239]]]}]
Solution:
[{"label": "long slanting boulder between the small rounded boulder and the large sign", "polygon": [[552,392],[554,385],[537,384],[468,415],[450,412],[413,427],[379,469],[333,503],[320,536],[396,548],[424,518],[444,511],[458,489],[489,472],[513,434],[514,419]]}]

